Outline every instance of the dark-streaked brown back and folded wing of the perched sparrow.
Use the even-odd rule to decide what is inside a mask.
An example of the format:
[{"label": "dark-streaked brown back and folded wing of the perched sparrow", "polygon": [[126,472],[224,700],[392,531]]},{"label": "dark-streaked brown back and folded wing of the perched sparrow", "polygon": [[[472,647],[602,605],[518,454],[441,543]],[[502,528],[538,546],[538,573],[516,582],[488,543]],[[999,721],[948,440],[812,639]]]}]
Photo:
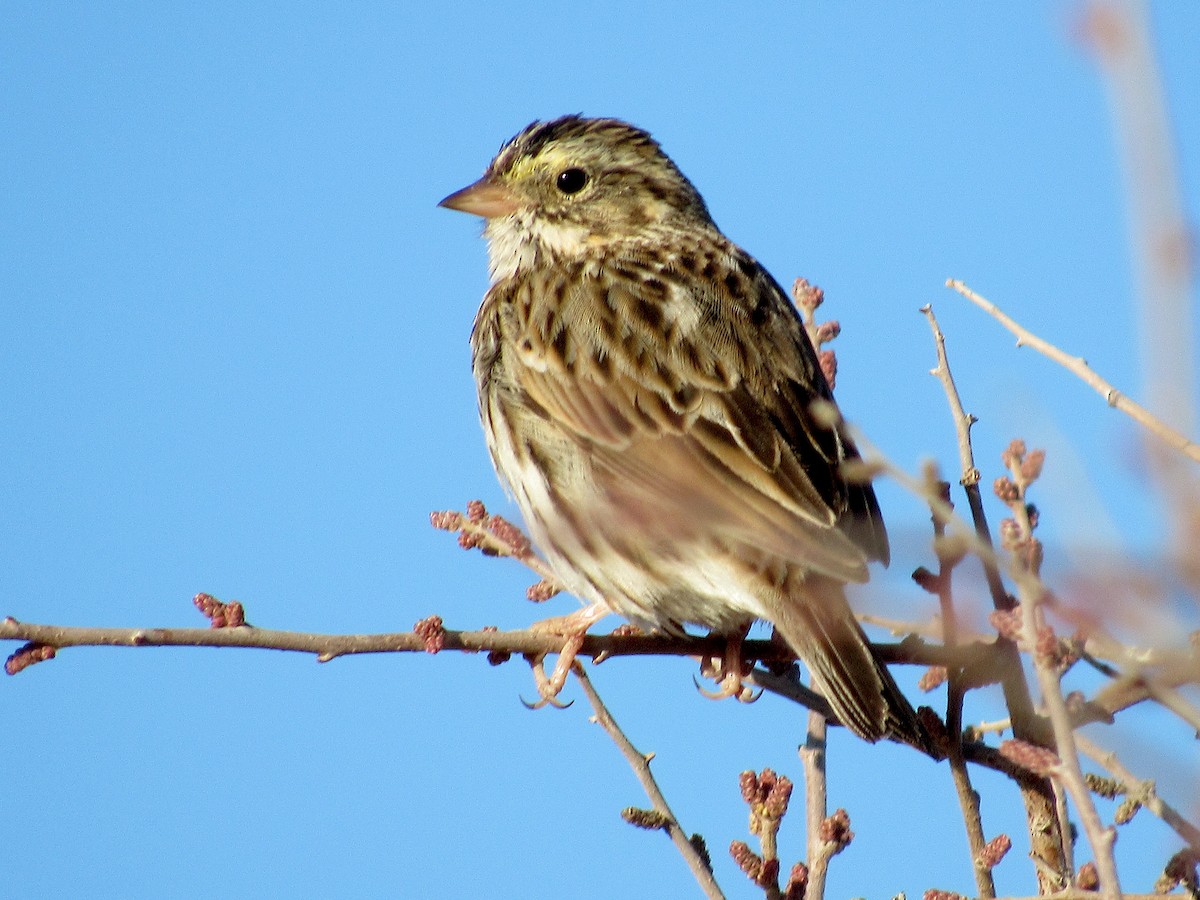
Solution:
[{"label": "dark-streaked brown back and folded wing of the perched sparrow", "polygon": [[887,558],[870,486],[839,474],[854,449],[811,413],[832,400],[816,354],[750,257],[714,242],[547,277],[504,304],[511,376],[590,445],[598,485],[631,523],[715,534],[842,581]]}]

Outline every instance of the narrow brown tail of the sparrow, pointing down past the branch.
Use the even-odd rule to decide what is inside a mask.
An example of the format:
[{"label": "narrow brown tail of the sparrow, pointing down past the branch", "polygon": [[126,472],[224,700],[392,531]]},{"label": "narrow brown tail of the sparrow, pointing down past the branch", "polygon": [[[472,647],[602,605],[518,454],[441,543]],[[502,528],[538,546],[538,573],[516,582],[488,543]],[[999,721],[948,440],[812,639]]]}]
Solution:
[{"label": "narrow brown tail of the sparrow, pointing down past the branch", "polygon": [[887,667],[876,659],[840,582],[810,575],[773,618],[814,674],[838,720],[865,740],[895,738],[928,749],[929,734]]}]

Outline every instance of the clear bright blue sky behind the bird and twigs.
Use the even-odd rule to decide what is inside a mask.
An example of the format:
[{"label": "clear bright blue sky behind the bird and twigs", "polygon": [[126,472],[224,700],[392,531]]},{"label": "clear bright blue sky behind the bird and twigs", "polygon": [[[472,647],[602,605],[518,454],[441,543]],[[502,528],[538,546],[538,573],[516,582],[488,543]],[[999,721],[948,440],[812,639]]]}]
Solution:
[{"label": "clear bright blue sky behind the bird and twigs", "polygon": [[[430,613],[521,628],[574,608],[529,606],[520,566],[428,527],[430,510],[475,497],[511,511],[467,348],[484,245],[436,203],[528,121],[568,112],[653,131],[730,236],[784,283],[826,289],[844,328],[839,398],[892,458],[956,464],[917,312],[934,302],[985,480],[1012,437],[1050,449],[1054,564],[1096,550],[1153,562],[1132,426],[942,287],[966,280],[1136,396],[1118,158],[1075,5],[414,6],[6,5],[0,614],[196,625],[198,590],[313,631]],[[1200,6],[1154,12],[1194,220]],[[928,514],[880,493],[898,550],[870,593],[923,617],[906,574],[928,563]],[[725,889],[755,896],[725,850],[746,838],[737,775],[799,779],[803,710],[708,702],[692,668],[620,660],[594,679],[658,754]],[[0,688],[11,884],[692,890],[665,839],[618,820],[643,798],[582,697],[527,712],[520,664],[72,650]],[[997,713],[980,696],[967,715]],[[1194,796],[1194,758],[1141,758],[1159,755]],[[830,896],[972,889],[944,768],[839,733],[830,769],[858,835]],[[989,833],[1019,834],[1015,792],[979,780]],[[785,823],[790,859],[800,820]],[[1147,888],[1175,844],[1138,824],[1118,850],[1127,887]],[[1032,889],[1021,852],[997,880]]]}]

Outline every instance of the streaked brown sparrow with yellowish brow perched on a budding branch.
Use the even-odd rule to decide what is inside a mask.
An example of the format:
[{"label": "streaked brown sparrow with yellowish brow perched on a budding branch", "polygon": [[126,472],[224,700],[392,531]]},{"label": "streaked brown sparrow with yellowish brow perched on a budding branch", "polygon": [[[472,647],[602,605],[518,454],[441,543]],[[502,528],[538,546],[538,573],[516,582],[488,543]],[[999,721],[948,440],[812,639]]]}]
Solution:
[{"label": "streaked brown sparrow with yellowish brow perched on a budding branch", "polygon": [[563,584],[667,631],[766,619],[851,731],[917,734],[846,601],[888,541],[804,324],[659,144],[535,121],[442,205],[486,220],[480,414]]}]

